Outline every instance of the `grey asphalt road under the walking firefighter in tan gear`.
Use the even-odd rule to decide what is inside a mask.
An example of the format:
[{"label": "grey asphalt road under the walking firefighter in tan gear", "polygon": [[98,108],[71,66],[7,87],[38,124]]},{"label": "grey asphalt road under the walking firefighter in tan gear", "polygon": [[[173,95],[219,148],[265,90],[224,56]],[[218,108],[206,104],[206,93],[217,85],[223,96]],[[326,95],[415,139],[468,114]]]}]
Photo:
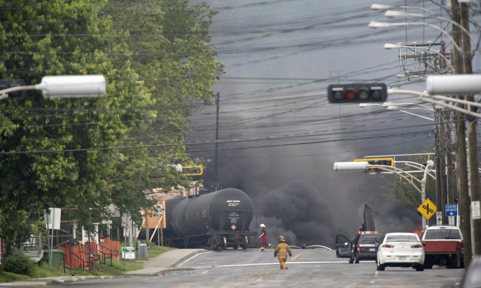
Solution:
[{"label": "grey asphalt road under the walking firefighter in tan gear", "polygon": [[273,250],[208,251],[159,276],[88,280],[54,287],[442,287],[459,282],[464,269],[387,267],[374,261],[349,264],[335,251],[293,249],[288,270],[280,270]]}]

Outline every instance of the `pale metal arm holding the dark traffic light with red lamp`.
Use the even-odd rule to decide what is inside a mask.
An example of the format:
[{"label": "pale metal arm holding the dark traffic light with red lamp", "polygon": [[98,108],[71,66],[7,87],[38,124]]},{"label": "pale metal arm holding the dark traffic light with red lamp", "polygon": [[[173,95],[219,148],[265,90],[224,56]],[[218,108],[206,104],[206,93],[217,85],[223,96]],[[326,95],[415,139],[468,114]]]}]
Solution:
[{"label": "pale metal arm holding the dark traffic light with red lamp", "polygon": [[[481,113],[471,111],[471,107],[478,107],[481,108],[481,103],[473,102],[473,101],[466,101],[458,98],[441,96],[441,95],[430,95],[426,92],[419,92],[416,90],[404,90],[404,89],[396,89],[396,88],[389,88],[387,89],[388,94],[409,94],[409,95],[417,95],[417,99],[433,104],[437,104],[451,110],[455,110],[464,114],[468,114],[474,116],[476,118],[481,118]],[[447,101],[447,102],[446,102]],[[455,102],[461,103],[466,105],[466,108],[461,108],[448,102]]]}]

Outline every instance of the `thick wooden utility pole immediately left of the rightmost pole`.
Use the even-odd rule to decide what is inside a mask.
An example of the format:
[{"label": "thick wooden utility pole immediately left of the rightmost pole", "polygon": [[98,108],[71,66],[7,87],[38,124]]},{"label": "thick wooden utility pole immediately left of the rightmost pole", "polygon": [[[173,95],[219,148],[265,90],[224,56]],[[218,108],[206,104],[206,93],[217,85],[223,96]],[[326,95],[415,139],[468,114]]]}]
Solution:
[{"label": "thick wooden utility pole immediately left of the rightmost pole", "polygon": [[[457,0],[451,0],[451,19],[460,23],[459,6]],[[456,43],[460,43],[461,35],[460,29],[456,25],[452,25],[452,37]],[[465,50],[465,49],[464,49]],[[457,49],[453,49],[454,57],[453,64],[456,74],[463,73],[463,61]],[[459,96],[459,98],[463,98]],[[464,105],[458,104],[463,107]],[[469,194],[467,190],[467,163],[466,163],[466,125],[464,116],[460,112],[456,112],[456,140],[457,140],[457,185],[458,185],[458,202],[460,225],[462,230],[462,237],[464,241],[464,262],[467,267],[471,261],[472,250],[471,247],[471,221],[469,212]]]}]

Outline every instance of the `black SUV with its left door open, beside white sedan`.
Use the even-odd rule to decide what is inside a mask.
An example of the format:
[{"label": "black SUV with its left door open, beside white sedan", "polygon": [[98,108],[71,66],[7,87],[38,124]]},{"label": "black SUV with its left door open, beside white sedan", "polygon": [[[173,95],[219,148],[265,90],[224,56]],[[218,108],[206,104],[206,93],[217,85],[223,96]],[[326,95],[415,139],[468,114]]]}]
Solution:
[{"label": "black SUV with its left door open, beside white sedan", "polygon": [[382,242],[383,234],[376,231],[359,231],[352,242],[344,235],[336,235],[336,256],[349,258],[349,263],[360,260],[376,260],[377,248]]}]

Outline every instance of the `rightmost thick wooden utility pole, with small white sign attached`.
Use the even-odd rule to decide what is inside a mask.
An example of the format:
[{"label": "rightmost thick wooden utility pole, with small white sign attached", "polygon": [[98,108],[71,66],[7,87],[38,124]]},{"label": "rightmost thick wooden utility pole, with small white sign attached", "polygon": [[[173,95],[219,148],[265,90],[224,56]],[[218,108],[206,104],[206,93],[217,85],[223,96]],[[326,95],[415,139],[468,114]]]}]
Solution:
[{"label": "rightmost thick wooden utility pole, with small white sign attached", "polygon": [[[469,32],[469,6],[467,3],[459,3],[461,25]],[[471,66],[471,42],[466,33],[462,33],[462,49],[463,49],[463,72],[465,74],[472,73]],[[467,101],[474,101],[473,95],[466,95]],[[481,192],[479,191],[479,172],[477,158],[477,139],[475,117],[467,118],[467,147],[469,155],[469,190],[471,201],[481,200]],[[472,202],[471,202],[472,203]],[[471,205],[472,206],[472,205]],[[473,255],[481,255],[481,244],[476,241],[481,240],[481,219],[472,219],[472,251]]]}]

